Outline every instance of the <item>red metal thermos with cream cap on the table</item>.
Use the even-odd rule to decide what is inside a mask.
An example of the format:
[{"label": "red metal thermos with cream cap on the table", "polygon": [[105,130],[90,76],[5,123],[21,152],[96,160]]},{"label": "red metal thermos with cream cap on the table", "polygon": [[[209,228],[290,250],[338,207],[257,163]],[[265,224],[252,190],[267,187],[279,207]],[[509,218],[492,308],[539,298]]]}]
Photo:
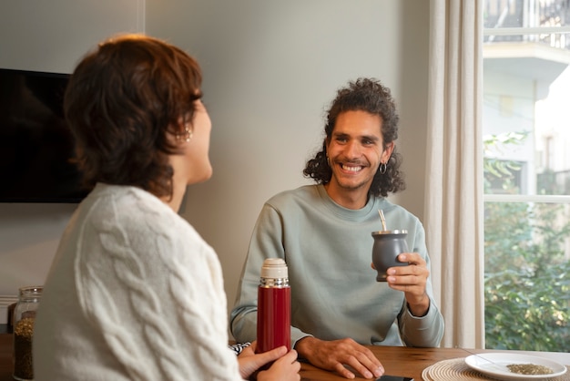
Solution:
[{"label": "red metal thermos with cream cap on the table", "polygon": [[261,266],[258,288],[257,353],[281,345],[290,350],[290,290],[287,263],[280,258],[266,259]]}]

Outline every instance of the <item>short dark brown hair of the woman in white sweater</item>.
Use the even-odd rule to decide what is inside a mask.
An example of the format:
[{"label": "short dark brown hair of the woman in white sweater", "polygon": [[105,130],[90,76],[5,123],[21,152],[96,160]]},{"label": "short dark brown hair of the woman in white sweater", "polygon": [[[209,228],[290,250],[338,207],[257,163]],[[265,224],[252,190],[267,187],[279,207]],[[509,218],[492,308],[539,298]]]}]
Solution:
[{"label": "short dark brown hair of the woman in white sweater", "polygon": [[64,99],[84,183],[131,185],[172,195],[168,134],[191,123],[201,98],[198,62],[141,35],[111,38],[77,65]]}]

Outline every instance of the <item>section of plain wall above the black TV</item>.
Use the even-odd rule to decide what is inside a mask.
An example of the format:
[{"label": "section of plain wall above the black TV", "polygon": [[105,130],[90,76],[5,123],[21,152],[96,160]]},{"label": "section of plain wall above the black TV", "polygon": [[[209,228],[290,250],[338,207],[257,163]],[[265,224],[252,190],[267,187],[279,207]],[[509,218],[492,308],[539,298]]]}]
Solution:
[{"label": "section of plain wall above the black TV", "polygon": [[71,73],[109,35],[144,31],[145,0],[25,0],[0,4],[0,67]]}]

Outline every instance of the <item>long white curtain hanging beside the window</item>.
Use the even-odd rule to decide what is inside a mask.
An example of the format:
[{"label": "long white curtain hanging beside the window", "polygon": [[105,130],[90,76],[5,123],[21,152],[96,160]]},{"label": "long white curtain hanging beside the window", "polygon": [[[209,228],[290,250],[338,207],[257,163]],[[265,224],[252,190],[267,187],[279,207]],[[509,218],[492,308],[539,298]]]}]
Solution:
[{"label": "long white curtain hanging beside the window", "polygon": [[445,347],[484,347],[483,0],[431,0],[424,224]]}]

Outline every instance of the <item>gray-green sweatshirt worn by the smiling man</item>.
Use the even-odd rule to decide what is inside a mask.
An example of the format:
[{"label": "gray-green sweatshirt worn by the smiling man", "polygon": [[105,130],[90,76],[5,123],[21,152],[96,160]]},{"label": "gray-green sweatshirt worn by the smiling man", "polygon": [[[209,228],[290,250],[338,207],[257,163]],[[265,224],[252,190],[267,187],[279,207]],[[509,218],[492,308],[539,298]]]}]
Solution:
[{"label": "gray-green sweatshirt worn by the smiling man", "polygon": [[322,340],[351,337],[362,345],[438,346],[443,316],[433,300],[429,312],[410,314],[403,293],[376,282],[372,232],[407,230],[408,247],[430,268],[422,223],[384,198],[372,197],[350,210],[331,200],[322,185],[303,186],[272,197],[254,228],[230,329],[238,342],[256,338],[257,297],[265,258],[283,258],[291,287],[291,344],[313,335]]}]

